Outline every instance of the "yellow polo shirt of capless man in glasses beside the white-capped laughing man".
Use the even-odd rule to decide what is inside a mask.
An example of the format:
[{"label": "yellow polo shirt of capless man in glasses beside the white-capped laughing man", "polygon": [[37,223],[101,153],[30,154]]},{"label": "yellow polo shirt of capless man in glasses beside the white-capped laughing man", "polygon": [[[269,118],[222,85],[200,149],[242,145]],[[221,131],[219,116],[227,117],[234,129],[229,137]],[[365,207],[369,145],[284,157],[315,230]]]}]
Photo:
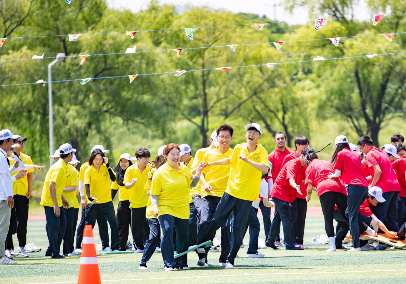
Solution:
[{"label": "yellow polo shirt of capless man in glasses beside the white-capped laughing man", "polygon": [[[204,156],[203,160],[205,164],[207,162],[215,162],[224,158],[230,158],[231,154],[233,153],[233,149],[229,148],[227,152],[224,154],[218,150],[217,146],[215,149],[207,151]],[[206,197],[207,195],[222,197],[227,188],[227,182],[230,176],[230,168],[231,165],[225,166],[209,166],[205,167],[202,171],[205,175],[205,180],[210,186],[212,186],[213,191],[207,192],[204,190],[203,185],[201,187],[201,195],[202,197]]]}]

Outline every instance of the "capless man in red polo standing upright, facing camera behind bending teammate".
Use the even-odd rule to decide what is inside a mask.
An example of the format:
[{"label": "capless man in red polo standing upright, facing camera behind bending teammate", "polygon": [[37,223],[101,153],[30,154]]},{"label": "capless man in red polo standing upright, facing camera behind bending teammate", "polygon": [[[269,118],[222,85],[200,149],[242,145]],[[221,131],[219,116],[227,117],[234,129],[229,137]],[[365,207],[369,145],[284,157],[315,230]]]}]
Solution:
[{"label": "capless man in red polo standing upright, facing camera behind bending teammate", "polygon": [[[272,176],[272,182],[275,182],[276,177],[279,175],[279,172],[282,169],[283,166],[283,159],[293,153],[293,151],[289,150],[288,148],[286,148],[285,144],[286,144],[286,136],[285,133],[283,132],[277,132],[275,134],[275,144],[276,144],[276,149],[273,150],[269,155],[268,155],[268,160],[272,163],[272,169],[271,169],[271,176]],[[271,187],[272,188],[272,187]],[[265,207],[265,206],[263,206]],[[259,204],[259,208],[261,208],[261,204]],[[263,226],[264,226],[264,230],[265,230],[265,236],[268,236],[269,234],[269,229],[271,227],[271,219],[270,219],[270,215],[271,215],[271,210],[267,207],[265,207],[265,210],[269,210],[269,222],[268,222],[268,218],[266,218],[267,216],[265,216],[262,211],[262,216],[263,216]],[[267,223],[267,224],[265,224]],[[276,239],[275,239],[275,245],[282,245],[281,244],[281,238],[279,237],[279,234],[281,232],[281,225],[279,224],[278,226],[278,232],[276,233]]]}]

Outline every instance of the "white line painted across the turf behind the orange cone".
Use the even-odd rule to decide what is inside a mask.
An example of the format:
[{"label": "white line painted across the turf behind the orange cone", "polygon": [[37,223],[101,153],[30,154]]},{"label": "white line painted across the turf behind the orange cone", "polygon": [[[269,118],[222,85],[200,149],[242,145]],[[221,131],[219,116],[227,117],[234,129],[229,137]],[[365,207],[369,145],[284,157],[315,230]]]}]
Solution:
[{"label": "white line painted across the turf behind the orange cone", "polygon": [[[388,269],[388,270],[374,270],[375,272],[386,271],[406,271],[406,269]],[[356,271],[329,271],[328,273],[367,273],[371,270],[356,270]],[[262,273],[262,274],[226,274],[226,275],[204,275],[204,276],[183,276],[183,277],[160,277],[160,278],[134,278],[134,279],[114,279],[114,280],[102,280],[102,282],[116,282],[116,281],[141,281],[141,280],[164,280],[164,279],[181,279],[181,278],[201,278],[201,277],[230,277],[230,276],[261,276],[261,275],[296,275],[296,274],[325,274],[323,272],[284,272],[284,273]],[[77,281],[66,282],[30,282],[21,284],[60,284],[60,283],[77,283]]]}]

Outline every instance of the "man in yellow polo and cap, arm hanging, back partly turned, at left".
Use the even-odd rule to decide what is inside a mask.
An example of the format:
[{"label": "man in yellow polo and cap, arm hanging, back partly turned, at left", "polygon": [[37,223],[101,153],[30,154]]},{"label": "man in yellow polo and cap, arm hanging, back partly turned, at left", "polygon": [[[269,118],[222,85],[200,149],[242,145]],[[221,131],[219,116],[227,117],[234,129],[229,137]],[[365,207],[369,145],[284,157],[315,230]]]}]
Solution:
[{"label": "man in yellow polo and cap, arm hanging, back partly turned, at left", "polygon": [[65,188],[67,164],[72,160],[73,153],[76,152],[67,143],[61,145],[59,150],[60,159],[48,170],[41,195],[41,205],[44,206],[47,220],[45,229],[49,241],[45,256],[51,258],[65,258],[59,254],[59,251],[66,230],[64,206],[69,208],[69,202],[62,193]]}]

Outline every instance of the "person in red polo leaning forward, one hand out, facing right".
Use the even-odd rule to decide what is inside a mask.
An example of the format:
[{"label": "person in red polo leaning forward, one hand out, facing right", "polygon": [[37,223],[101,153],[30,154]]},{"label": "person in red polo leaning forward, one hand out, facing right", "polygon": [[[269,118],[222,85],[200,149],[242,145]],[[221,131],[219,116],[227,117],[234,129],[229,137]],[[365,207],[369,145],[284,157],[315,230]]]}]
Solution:
[{"label": "person in red polo leaning forward, one hand out, facing right", "polygon": [[271,223],[268,239],[265,242],[268,247],[278,249],[274,243],[278,225],[282,221],[285,249],[303,249],[302,247],[295,247],[292,239],[292,215],[289,204],[296,199],[296,194],[300,192],[300,185],[298,184],[300,181],[296,180],[296,178],[300,176],[299,173],[304,169],[305,165],[303,155],[289,161],[282,167],[272,186],[271,197],[275,204],[275,217]]}]

